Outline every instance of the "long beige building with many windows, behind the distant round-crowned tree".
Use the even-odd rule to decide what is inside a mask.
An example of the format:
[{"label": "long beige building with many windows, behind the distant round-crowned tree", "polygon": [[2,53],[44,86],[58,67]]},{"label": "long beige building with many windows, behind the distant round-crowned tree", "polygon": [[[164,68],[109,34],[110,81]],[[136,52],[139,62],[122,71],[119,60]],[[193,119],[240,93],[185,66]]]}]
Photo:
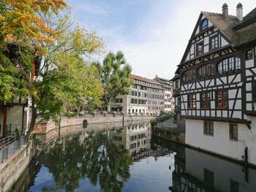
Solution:
[{"label": "long beige building with many windows, behind the distant round-crowned tree", "polygon": [[110,103],[111,111],[125,114],[159,115],[164,110],[164,88],[156,80],[132,74],[134,85],[129,95],[120,95]]}]

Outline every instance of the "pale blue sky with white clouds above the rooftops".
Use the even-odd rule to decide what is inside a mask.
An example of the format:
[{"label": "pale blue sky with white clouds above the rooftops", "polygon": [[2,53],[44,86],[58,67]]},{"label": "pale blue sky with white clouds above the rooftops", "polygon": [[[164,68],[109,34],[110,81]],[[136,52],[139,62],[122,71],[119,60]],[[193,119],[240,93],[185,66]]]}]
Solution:
[{"label": "pale blue sky with white clouds above the rooftops", "polygon": [[255,0],[67,0],[72,18],[89,31],[97,31],[106,53],[121,50],[132,73],[171,79],[180,64],[200,11],[230,15],[243,4],[246,15]]}]

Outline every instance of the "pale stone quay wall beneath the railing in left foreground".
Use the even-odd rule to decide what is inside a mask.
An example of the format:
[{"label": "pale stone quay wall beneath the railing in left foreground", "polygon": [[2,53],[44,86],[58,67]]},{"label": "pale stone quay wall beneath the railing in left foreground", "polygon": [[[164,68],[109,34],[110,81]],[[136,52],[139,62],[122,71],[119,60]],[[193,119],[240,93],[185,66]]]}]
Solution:
[{"label": "pale stone quay wall beneath the railing in left foreground", "polygon": [[16,183],[36,153],[34,142],[29,140],[13,155],[0,164],[0,192],[8,191]]}]

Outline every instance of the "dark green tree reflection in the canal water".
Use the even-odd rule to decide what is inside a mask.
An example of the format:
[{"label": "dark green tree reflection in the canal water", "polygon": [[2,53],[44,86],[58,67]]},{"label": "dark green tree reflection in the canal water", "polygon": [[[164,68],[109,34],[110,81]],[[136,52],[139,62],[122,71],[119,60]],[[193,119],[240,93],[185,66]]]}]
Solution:
[{"label": "dark green tree reflection in the canal water", "polygon": [[53,174],[55,185],[42,191],[75,191],[83,179],[94,186],[99,184],[102,191],[121,191],[129,180],[132,158],[107,135],[99,133],[87,139],[76,135],[54,142],[55,146],[42,156],[42,162]]}]

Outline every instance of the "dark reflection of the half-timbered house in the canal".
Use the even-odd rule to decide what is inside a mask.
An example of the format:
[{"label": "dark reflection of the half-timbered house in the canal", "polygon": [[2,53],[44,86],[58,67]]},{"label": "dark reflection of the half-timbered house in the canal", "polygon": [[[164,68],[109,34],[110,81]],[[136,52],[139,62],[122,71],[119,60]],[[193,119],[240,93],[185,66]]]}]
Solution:
[{"label": "dark reflection of the half-timbered house in the canal", "polygon": [[154,142],[177,152],[170,191],[255,191],[255,169],[173,142]]}]

